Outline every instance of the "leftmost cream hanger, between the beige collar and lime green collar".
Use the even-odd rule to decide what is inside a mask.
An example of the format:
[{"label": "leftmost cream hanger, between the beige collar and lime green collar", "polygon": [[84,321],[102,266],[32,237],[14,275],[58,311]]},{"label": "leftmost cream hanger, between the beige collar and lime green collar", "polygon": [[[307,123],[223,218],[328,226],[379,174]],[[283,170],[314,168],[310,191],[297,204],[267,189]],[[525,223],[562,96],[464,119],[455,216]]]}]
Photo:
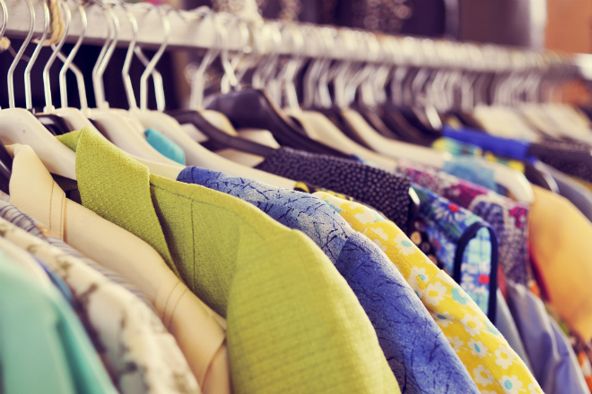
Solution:
[{"label": "leftmost cream hanger, between the beige collar and lime green collar", "polygon": [[[57,141],[57,139],[48,132],[48,129],[46,129],[43,124],[40,124],[39,120],[27,109],[16,108],[14,105],[14,68],[21,60],[22,54],[30,43],[35,24],[35,9],[33,4],[30,0],[25,0],[25,2],[29,7],[30,12],[29,32],[22,43],[22,47],[14,57],[13,64],[11,64],[8,70],[8,101],[10,107],[0,111],[0,140],[2,140],[4,145],[13,143],[29,145],[35,150],[35,153],[43,161],[46,167],[48,167],[49,172],[59,176],[65,176],[66,178],[76,179],[74,152],[65,147],[60,141]],[[44,1],[41,1],[40,3],[43,5],[44,17],[48,24],[48,4]],[[25,95],[30,98],[30,85],[28,86],[28,89],[25,90]]]}]

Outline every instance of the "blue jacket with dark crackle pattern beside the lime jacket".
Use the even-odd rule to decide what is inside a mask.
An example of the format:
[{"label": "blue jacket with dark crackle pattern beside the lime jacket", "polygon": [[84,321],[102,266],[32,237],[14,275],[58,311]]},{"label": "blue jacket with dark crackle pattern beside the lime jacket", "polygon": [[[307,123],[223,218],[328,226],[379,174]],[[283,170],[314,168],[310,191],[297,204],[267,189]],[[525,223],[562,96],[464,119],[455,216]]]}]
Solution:
[{"label": "blue jacket with dark crackle pattern beside the lime jacket", "polygon": [[335,263],[377,332],[402,393],[478,393],[419,297],[378,245],[318,197],[187,167],[180,182],[231,194],[309,236]]}]

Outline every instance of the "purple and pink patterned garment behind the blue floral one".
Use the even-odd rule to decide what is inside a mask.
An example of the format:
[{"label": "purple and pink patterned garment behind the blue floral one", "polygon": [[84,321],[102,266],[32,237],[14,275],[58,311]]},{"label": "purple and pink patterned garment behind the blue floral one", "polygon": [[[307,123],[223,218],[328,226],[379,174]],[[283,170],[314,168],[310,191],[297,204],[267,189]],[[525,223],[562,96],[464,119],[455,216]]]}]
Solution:
[{"label": "purple and pink patterned garment behind the blue floral one", "polygon": [[397,170],[409,176],[414,184],[440,194],[489,223],[498,236],[499,261],[504,275],[515,282],[528,283],[527,205],[432,168],[405,162]]}]

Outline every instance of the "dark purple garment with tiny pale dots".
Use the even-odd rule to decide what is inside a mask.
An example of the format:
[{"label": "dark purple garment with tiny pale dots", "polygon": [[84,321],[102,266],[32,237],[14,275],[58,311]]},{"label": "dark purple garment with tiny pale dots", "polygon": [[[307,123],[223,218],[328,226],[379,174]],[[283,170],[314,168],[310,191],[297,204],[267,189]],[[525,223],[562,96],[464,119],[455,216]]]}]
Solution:
[{"label": "dark purple garment with tiny pale dots", "polygon": [[385,170],[327,155],[290,148],[275,150],[258,169],[337,193],[376,208],[405,230],[409,212],[409,181]]}]

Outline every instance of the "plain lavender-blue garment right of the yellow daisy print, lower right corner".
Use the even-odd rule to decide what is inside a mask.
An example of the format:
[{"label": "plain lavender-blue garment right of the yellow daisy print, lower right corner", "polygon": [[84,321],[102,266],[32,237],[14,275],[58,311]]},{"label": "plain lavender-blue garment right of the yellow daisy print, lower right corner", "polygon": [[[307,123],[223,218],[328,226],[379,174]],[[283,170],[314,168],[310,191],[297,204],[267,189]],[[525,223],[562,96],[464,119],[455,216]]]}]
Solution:
[{"label": "plain lavender-blue garment right of the yellow daisy print, lower right corner", "polygon": [[508,306],[545,394],[589,394],[570,341],[527,287],[508,280]]}]

